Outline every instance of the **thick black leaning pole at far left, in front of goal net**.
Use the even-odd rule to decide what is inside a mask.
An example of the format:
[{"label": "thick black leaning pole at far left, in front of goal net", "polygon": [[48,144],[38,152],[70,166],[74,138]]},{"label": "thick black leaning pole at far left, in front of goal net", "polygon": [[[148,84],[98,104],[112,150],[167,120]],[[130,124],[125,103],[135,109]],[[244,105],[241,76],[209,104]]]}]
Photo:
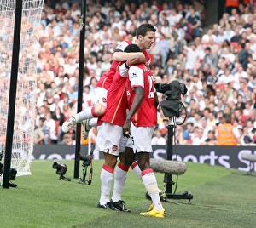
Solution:
[{"label": "thick black leaning pole at far left, in front of goal net", "polygon": [[4,153],[3,165],[3,188],[9,188],[9,172],[12,157],[12,145],[14,135],[14,122],[15,122],[15,103],[16,103],[16,88],[17,76],[19,67],[19,53],[20,53],[20,26],[22,16],[22,0],[16,1],[15,8],[15,29],[14,29],[14,43],[12,53],[12,66],[11,77],[9,85],[9,108],[7,117],[7,130],[6,130],[6,144]]}]

